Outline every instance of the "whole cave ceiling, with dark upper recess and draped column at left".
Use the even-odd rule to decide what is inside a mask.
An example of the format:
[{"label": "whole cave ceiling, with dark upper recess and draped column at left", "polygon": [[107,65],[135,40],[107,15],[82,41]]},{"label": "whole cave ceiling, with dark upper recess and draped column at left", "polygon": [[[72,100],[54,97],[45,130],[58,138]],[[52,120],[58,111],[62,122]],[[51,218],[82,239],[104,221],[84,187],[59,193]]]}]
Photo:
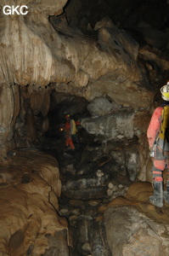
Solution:
[{"label": "whole cave ceiling, with dark upper recess and draped column at left", "polygon": [[[28,14],[4,15],[5,4],[25,4]],[[26,116],[42,113],[48,129],[51,91],[151,109],[168,80],[168,10],[165,0],[2,0],[1,143],[11,141],[16,120]],[[25,137],[33,140],[35,122],[30,129]]]}]

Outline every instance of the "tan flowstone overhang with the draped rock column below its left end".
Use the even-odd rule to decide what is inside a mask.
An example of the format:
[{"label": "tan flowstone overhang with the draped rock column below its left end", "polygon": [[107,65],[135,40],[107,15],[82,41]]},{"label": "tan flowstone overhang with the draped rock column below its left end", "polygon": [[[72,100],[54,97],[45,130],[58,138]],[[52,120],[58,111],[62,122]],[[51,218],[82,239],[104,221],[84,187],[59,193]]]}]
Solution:
[{"label": "tan flowstone overhang with the draped rock column below its left end", "polygon": [[[137,63],[138,43],[109,19],[96,24],[98,38],[85,37],[66,21],[50,23],[49,15],[60,15],[65,3],[23,1],[27,15],[0,14],[1,158],[48,130],[51,90],[66,90],[88,101],[104,95],[132,108],[149,106],[152,93],[139,86],[144,78]],[[20,1],[2,1],[2,7],[5,4]],[[39,90],[48,84],[51,90]],[[28,85],[27,96],[20,96],[20,87]],[[30,106],[22,108],[27,101]],[[14,138],[15,130],[20,136],[25,132],[22,143]]]}]

